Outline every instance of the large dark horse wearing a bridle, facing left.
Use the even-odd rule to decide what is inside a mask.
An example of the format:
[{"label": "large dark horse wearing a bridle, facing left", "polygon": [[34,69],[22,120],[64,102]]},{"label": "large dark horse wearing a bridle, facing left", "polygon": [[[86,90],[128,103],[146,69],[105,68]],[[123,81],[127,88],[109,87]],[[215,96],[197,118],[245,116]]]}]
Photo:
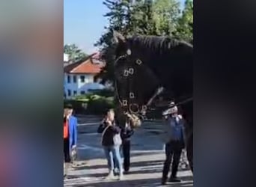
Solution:
[{"label": "large dark horse wearing a bridle, facing left", "polygon": [[[134,36],[113,32],[116,93],[124,111],[144,115],[153,99],[167,90],[181,103],[186,126],[186,150],[193,171],[193,46],[170,37]],[[186,102],[187,100],[187,102]],[[166,109],[168,106],[166,106]]]}]

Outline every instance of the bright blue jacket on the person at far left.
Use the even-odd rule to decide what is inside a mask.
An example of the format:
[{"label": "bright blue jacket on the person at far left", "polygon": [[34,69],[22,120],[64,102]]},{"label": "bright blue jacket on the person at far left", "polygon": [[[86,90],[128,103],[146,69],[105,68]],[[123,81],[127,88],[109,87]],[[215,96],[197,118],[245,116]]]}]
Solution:
[{"label": "bright blue jacket on the person at far left", "polygon": [[69,136],[70,136],[70,150],[73,145],[77,143],[77,119],[73,115],[68,120]]}]

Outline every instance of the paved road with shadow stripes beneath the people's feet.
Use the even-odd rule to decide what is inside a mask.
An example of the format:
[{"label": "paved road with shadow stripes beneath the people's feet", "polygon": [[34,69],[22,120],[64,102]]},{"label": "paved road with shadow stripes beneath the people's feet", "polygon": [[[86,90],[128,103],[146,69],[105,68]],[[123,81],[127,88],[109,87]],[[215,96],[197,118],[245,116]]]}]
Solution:
[{"label": "paved road with shadow stripes beneath the people's feet", "polygon": [[[100,119],[79,118],[79,161],[71,169],[64,186],[74,187],[119,187],[119,186],[160,186],[162,163],[165,159],[163,144],[159,138],[161,123],[144,123],[132,136],[132,158],[129,174],[123,181],[106,181],[106,159],[100,146],[100,135],[96,133]],[[192,173],[179,171],[183,183],[169,184],[173,187],[193,186]]]}]

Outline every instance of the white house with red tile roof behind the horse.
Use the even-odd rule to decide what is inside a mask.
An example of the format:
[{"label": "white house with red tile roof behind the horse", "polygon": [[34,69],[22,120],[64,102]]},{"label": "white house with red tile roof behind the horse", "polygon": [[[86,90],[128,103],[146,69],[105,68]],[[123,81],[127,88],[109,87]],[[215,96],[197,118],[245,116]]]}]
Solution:
[{"label": "white house with red tile roof behind the horse", "polygon": [[94,77],[104,67],[96,53],[90,55],[85,61],[68,64],[64,67],[64,96],[67,99],[88,93],[90,90],[106,88]]}]

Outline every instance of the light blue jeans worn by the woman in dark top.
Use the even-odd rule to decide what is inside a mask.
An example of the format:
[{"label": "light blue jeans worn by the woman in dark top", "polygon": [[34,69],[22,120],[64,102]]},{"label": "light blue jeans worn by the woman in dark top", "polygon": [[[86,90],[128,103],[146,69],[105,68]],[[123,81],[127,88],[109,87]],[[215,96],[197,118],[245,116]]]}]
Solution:
[{"label": "light blue jeans worn by the woman in dark top", "polygon": [[114,171],[114,159],[117,162],[119,171],[123,171],[121,155],[120,155],[120,146],[110,146],[103,147],[106,155],[106,159],[108,161],[109,171]]}]

